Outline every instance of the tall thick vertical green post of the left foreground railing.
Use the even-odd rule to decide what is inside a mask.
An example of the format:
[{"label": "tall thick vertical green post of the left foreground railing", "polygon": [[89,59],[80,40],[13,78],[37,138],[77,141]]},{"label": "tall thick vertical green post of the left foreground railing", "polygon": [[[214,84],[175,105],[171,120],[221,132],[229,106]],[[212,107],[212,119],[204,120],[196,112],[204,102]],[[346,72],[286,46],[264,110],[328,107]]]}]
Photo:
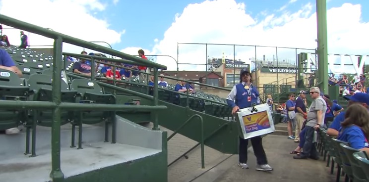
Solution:
[{"label": "tall thick vertical green post of the left foreground railing", "polygon": [[61,146],[60,146],[60,124],[61,124],[61,110],[59,104],[61,103],[61,82],[62,82],[62,44],[63,40],[58,37],[54,40],[54,59],[53,59],[53,102],[57,106],[53,109],[53,123],[51,129],[51,173],[50,178],[53,182],[63,182],[64,174],[61,169]]}]

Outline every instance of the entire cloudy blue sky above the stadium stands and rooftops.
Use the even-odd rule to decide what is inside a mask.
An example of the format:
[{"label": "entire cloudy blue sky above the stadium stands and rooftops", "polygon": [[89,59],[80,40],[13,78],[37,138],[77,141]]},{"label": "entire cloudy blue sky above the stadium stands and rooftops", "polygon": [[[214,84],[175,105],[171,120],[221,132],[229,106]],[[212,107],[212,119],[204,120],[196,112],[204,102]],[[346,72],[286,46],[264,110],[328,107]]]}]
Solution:
[{"label": "entire cloudy blue sky above the stadium stands and rooftops", "polygon": [[[132,55],[140,48],[146,55],[170,55],[154,60],[168,70],[177,69],[177,60],[179,70],[198,71],[206,70],[208,58],[223,55],[246,63],[265,55],[266,60],[295,64],[296,53],[313,52],[300,48],[316,48],[315,9],[315,0],[0,0],[0,14],[85,41],[106,42]],[[327,9],[328,52],[367,55],[369,1],[327,0]],[[19,30],[5,29],[3,34],[10,44],[20,44]],[[30,33],[29,44],[52,45],[53,40]],[[82,50],[63,45],[66,52]],[[330,59],[352,63],[350,56]],[[331,68],[336,74],[345,70]]]}]

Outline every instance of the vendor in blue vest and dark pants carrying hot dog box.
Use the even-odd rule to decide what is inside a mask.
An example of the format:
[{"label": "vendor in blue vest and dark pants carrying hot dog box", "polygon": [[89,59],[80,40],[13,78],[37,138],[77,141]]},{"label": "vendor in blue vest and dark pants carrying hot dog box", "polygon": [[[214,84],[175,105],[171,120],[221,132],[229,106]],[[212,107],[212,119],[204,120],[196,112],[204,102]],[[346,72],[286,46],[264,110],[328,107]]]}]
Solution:
[{"label": "vendor in blue vest and dark pants carrying hot dog box", "polygon": [[[232,88],[227,97],[227,103],[232,107],[232,114],[239,109],[251,107],[253,104],[260,104],[259,92],[251,83],[251,74],[247,68],[240,72],[240,83]],[[262,138],[260,136],[250,138],[252,149],[256,156],[257,171],[272,171],[273,168],[268,165]],[[247,165],[247,144],[248,139],[239,138],[239,166],[242,169],[248,169]]]}]

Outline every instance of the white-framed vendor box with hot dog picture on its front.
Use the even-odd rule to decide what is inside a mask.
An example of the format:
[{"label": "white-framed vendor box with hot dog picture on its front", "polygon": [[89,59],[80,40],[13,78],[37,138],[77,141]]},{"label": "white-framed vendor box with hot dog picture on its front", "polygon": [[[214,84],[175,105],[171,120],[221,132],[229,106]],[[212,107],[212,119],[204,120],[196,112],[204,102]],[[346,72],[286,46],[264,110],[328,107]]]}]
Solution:
[{"label": "white-framed vendor box with hot dog picture on its front", "polygon": [[244,139],[275,132],[272,108],[268,104],[241,109],[237,115]]}]

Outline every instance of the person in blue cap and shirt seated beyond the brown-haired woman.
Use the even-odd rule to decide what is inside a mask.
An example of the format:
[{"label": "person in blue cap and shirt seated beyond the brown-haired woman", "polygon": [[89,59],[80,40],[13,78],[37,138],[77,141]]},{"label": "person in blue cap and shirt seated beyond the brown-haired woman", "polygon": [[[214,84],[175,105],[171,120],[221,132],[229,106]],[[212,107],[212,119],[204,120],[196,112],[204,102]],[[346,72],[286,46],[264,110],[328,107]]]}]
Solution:
[{"label": "person in blue cap and shirt seated beyond the brown-haired woman", "polygon": [[[369,94],[368,93],[355,93],[354,95],[347,95],[344,96],[343,98],[345,98],[346,100],[348,100],[348,105],[350,106],[354,103],[360,103],[362,104],[364,107],[368,108],[369,110]],[[339,134],[339,131],[341,130],[341,122],[343,122],[345,120],[345,111],[340,112],[340,114],[338,114],[332,124],[329,125],[329,128],[327,130],[327,135],[332,136],[332,137],[337,137]]]}]

